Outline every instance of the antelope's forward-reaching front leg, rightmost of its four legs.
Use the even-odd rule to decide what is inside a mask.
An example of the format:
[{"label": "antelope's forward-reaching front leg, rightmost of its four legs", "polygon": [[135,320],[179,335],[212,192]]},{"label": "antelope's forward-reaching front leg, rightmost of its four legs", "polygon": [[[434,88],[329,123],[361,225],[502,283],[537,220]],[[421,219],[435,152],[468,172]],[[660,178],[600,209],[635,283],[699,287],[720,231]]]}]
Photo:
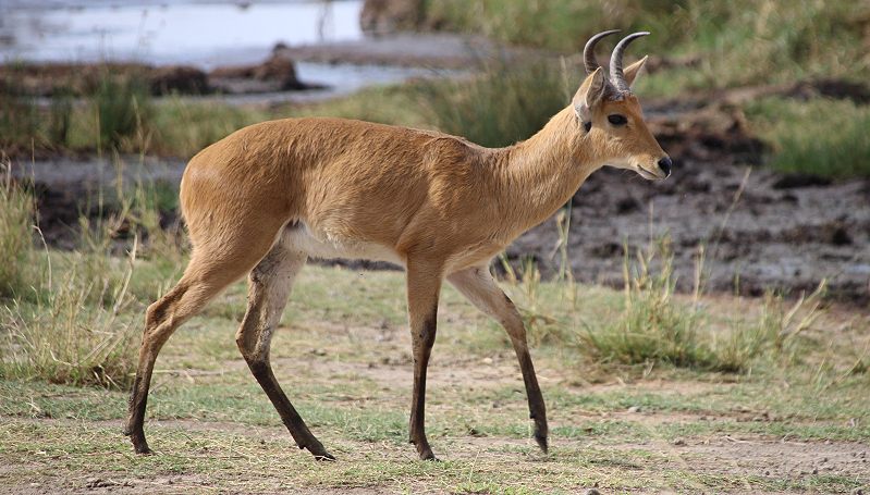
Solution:
[{"label": "antelope's forward-reaching front leg, rightmost of its four legs", "polygon": [[473,305],[499,321],[507,331],[514,352],[523,371],[523,382],[526,385],[526,395],[529,403],[529,416],[535,420],[535,441],[541,450],[547,453],[547,408],[543,404],[538,378],[535,375],[535,366],[526,342],[526,327],[523,318],[516,310],[513,301],[499,285],[492,280],[488,268],[469,268],[448,276],[453,284]]}]

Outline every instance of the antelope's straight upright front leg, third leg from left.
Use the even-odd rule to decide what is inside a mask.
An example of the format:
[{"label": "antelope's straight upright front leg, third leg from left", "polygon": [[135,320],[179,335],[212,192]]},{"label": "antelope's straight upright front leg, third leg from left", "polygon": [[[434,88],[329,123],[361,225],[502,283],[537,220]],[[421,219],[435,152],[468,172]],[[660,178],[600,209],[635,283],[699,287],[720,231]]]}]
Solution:
[{"label": "antelope's straight upright front leg, third leg from left", "polygon": [[411,401],[409,440],[417,446],[420,459],[437,460],[426,440],[426,369],[436,337],[438,293],[441,289],[440,267],[408,260],[407,293],[411,339],[414,354],[414,393]]}]

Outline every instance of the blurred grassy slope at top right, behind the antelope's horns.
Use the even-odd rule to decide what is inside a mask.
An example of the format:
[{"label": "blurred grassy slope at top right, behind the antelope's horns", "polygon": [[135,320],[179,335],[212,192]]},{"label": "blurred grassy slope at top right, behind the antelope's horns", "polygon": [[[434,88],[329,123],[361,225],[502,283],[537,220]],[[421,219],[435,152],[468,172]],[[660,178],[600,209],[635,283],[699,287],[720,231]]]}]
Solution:
[{"label": "blurred grassy slope at top right, behind the antelope's horns", "polygon": [[[425,24],[485,34],[514,45],[576,53],[605,28],[650,30],[658,55],[700,55],[703,88],[808,77],[866,78],[861,15],[848,1],[787,0],[459,0],[428,1]],[[837,53],[837,57],[832,57]],[[672,84],[673,86],[673,84]]]}]

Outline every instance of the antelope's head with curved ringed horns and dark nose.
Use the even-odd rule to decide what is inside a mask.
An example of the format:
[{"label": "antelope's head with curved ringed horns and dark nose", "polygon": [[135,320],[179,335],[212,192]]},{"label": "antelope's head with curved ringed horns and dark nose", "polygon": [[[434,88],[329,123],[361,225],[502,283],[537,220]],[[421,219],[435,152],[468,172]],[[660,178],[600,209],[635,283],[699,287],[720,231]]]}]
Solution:
[{"label": "antelope's head with curved ringed horns and dark nose", "polygon": [[635,33],[616,45],[610,58],[610,78],[596,62],[596,44],[617,32],[599,33],[586,44],[584,63],[588,75],[574,95],[574,110],[597,162],[634,170],[647,180],[664,180],[671,175],[671,158],[647,128],[640,103],[630,89],[647,58],[623,69],[625,47],[649,33]]}]

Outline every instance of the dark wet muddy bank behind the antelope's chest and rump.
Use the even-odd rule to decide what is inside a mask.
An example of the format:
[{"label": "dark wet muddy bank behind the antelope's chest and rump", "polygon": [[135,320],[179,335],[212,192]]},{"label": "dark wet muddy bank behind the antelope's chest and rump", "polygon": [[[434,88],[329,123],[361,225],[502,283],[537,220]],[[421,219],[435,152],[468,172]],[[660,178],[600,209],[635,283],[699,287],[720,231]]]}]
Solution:
[{"label": "dark wet muddy bank behind the antelope's chest and rump", "polygon": [[[703,244],[710,290],[796,293],[826,279],[833,297],[870,302],[870,180],[831,182],[684,157],[663,183],[604,169],[583,185],[572,201],[568,237],[576,280],[621,286],[623,246],[634,252],[666,235],[683,289],[691,287],[698,246]],[[175,189],[183,169],[181,160],[131,158],[122,176],[126,184],[157,181]],[[111,190],[118,180],[117,169],[98,160],[23,162],[15,170],[36,183],[46,239],[66,249],[75,247],[79,211],[99,214],[93,199],[100,184]],[[175,220],[174,212],[164,212],[162,223]],[[551,219],[519,237],[507,256],[514,261],[531,256],[544,275],[551,275],[559,269],[557,243]]]}]

